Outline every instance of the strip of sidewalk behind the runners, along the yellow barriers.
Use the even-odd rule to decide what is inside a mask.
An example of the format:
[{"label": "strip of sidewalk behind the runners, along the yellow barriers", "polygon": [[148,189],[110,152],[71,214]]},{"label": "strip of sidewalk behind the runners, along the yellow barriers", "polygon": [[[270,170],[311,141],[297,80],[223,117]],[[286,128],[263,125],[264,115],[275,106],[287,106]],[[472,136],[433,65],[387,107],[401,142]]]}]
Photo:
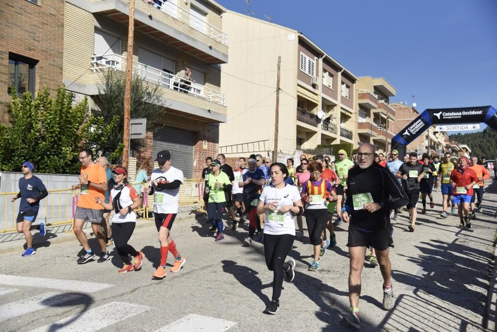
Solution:
[{"label": "strip of sidewalk behind the runners, along the yellow barriers", "polygon": [[[177,222],[191,220],[204,216],[203,213],[196,211],[195,208],[196,207],[192,206],[180,207],[175,221]],[[155,226],[155,222],[153,219],[143,219],[136,222],[136,229],[152,226]],[[84,224],[84,231],[88,237],[90,237],[90,235],[93,236],[93,233],[91,233],[90,223],[86,222]],[[71,224],[56,226],[48,225],[47,234],[43,237],[41,237],[39,232],[36,230],[31,231],[31,233],[33,234],[33,247],[35,249],[77,241],[76,236],[72,232]],[[26,250],[25,246],[26,240],[24,238],[24,234],[17,232],[0,233],[0,255],[11,252],[22,253],[24,250]]]}]

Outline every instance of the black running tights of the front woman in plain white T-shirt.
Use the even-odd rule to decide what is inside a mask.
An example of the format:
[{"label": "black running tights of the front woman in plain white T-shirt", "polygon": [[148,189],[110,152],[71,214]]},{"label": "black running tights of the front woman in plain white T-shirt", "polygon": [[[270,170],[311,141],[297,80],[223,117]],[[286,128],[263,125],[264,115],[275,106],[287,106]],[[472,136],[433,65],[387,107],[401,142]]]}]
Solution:
[{"label": "black running tights of the front woman in plain white T-shirt", "polygon": [[281,295],[283,272],[288,270],[288,264],[285,263],[285,259],[292,248],[294,239],[295,236],[290,234],[264,234],[266,265],[269,271],[273,271],[273,297],[271,300],[278,301]]}]

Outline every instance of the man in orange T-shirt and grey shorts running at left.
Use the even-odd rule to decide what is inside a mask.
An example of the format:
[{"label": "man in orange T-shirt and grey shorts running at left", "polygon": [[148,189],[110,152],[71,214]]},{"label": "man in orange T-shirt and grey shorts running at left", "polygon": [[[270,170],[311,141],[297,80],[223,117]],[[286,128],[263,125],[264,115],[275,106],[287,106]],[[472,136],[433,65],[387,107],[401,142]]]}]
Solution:
[{"label": "man in orange T-shirt and grey shorts running at left", "polygon": [[88,245],[88,238],[83,232],[83,225],[86,221],[91,222],[91,229],[95,234],[102,253],[97,260],[98,263],[110,259],[110,255],[105,248],[105,237],[101,230],[103,207],[97,204],[95,199],[104,200],[104,193],[107,190],[107,176],[102,166],[93,163],[93,152],[90,149],[80,150],[81,173],[80,183],[72,186],[73,190],[80,189],[78,206],[74,213],[73,231],[80,241],[83,249],[78,254],[78,264],[84,264],[95,257]]}]

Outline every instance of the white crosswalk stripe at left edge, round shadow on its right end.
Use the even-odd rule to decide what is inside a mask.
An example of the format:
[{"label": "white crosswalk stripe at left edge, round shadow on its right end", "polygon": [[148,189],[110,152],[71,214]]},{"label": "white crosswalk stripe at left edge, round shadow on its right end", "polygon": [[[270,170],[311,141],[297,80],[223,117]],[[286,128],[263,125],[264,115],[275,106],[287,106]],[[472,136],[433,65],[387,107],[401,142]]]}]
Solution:
[{"label": "white crosswalk stripe at left edge, round shadow on its right end", "polygon": [[10,302],[0,306],[0,322],[17,316],[29,314],[43,308],[56,306],[63,302],[72,301],[81,296],[82,295],[80,294],[60,294],[49,292],[24,300]]}]

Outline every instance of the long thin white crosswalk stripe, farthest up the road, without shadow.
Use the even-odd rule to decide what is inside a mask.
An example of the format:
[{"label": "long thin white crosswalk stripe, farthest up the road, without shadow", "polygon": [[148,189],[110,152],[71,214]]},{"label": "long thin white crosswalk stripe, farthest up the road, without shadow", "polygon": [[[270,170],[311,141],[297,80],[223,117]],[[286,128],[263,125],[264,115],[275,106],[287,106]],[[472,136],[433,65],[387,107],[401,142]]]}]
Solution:
[{"label": "long thin white crosswalk stripe, farthest up the road, without shadow", "polygon": [[111,284],[101,284],[79,280],[20,277],[5,274],[0,274],[0,284],[11,286],[44,287],[84,293],[93,293],[114,286]]}]

